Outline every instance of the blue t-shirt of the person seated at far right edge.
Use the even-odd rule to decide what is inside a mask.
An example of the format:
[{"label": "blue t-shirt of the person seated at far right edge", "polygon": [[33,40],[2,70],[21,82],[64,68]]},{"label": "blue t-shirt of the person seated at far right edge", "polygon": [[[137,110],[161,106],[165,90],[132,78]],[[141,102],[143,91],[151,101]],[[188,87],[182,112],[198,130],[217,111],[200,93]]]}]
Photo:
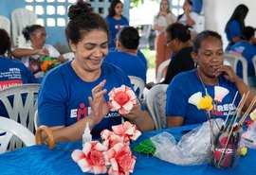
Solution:
[{"label": "blue t-shirt of the person seated at far right edge", "polygon": [[[231,52],[235,52],[238,55],[242,55],[247,59],[247,75],[248,77],[255,76],[255,70],[253,67],[252,58],[256,55],[256,46],[253,44],[249,44],[248,42],[241,41],[237,44],[234,44],[230,47]],[[239,62],[237,64],[237,75],[243,79],[243,68],[242,63]]]}]

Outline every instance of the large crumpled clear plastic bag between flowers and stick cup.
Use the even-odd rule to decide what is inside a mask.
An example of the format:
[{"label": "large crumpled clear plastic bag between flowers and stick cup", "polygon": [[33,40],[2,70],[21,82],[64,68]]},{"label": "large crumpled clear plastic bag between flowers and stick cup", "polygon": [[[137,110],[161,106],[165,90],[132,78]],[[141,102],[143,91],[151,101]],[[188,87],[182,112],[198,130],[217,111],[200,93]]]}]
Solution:
[{"label": "large crumpled clear plastic bag between flowers and stick cup", "polygon": [[[223,119],[213,119],[214,134],[223,124]],[[218,127],[217,127],[218,126]],[[210,160],[210,123],[205,122],[201,127],[183,135],[178,143],[174,136],[163,131],[150,140],[155,146],[155,157],[178,166],[193,166],[208,163]]]}]

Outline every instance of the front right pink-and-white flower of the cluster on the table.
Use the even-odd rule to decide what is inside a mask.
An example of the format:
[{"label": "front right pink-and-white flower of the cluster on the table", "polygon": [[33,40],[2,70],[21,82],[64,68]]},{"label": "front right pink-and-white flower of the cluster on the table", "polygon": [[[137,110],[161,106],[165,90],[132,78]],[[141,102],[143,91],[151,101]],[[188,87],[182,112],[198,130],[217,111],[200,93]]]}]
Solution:
[{"label": "front right pink-and-white flower of the cluster on the table", "polygon": [[108,174],[126,175],[134,171],[136,157],[132,155],[128,145],[119,143],[112,149],[109,149],[107,155],[111,164]]}]

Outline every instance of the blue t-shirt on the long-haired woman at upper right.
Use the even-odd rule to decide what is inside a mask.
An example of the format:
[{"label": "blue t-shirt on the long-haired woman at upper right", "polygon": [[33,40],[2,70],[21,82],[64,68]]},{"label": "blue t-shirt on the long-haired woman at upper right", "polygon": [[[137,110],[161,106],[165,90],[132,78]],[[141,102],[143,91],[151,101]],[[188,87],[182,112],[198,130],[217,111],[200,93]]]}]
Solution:
[{"label": "blue t-shirt on the long-haired woman at upper right", "polygon": [[225,29],[229,43],[232,43],[234,37],[240,37],[242,34],[242,26],[238,21],[230,21]]}]

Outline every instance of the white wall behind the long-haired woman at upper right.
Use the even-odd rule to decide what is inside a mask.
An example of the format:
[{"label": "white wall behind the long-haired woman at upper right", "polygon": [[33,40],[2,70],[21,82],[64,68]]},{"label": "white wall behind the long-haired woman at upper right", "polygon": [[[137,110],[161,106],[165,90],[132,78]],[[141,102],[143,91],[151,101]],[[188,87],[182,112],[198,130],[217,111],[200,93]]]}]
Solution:
[{"label": "white wall behind the long-haired woman at upper right", "polygon": [[246,26],[256,27],[255,0],[204,0],[203,3],[206,29],[215,30],[222,35],[224,48],[228,44],[224,28],[233,10],[239,4],[245,4],[249,9],[246,18]]}]

